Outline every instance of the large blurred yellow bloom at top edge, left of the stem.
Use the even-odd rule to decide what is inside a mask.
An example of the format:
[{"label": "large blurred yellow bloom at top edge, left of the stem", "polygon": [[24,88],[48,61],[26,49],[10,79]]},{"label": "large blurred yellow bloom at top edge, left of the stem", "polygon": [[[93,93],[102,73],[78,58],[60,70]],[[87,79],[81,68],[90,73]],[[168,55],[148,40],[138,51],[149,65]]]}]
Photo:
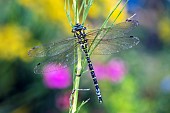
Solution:
[{"label": "large blurred yellow bloom at top edge, left of the stem", "polygon": [[40,18],[48,21],[57,21],[65,28],[71,29],[64,11],[64,0],[18,0]]}]

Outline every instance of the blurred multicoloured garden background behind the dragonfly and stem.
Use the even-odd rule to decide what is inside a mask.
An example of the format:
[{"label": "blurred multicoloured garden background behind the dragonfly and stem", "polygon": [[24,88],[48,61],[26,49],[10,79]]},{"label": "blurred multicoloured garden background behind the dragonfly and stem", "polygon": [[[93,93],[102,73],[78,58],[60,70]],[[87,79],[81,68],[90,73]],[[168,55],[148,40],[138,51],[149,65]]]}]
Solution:
[{"label": "blurred multicoloured garden background behind the dragonfly and stem", "polygon": [[[87,28],[102,25],[118,0],[94,0]],[[124,2],[110,19],[113,22]],[[116,23],[136,13],[140,43],[110,56],[92,56],[103,104],[90,74],[81,77],[81,113],[170,113],[170,1],[130,0]],[[0,0],[0,113],[68,113],[73,68],[36,75],[43,59],[30,58],[35,45],[73,36],[64,0]],[[100,61],[98,61],[100,59]]]}]

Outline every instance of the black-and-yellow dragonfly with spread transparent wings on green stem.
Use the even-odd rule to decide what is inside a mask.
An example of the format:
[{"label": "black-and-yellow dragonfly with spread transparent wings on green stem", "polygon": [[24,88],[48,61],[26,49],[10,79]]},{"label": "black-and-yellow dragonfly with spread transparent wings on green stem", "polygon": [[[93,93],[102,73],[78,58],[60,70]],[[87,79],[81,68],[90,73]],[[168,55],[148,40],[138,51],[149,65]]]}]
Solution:
[{"label": "black-and-yellow dragonfly with spread transparent wings on green stem", "polygon": [[[97,44],[92,52],[92,54],[97,55],[109,55],[132,48],[139,43],[139,38],[130,35],[130,32],[138,25],[139,22],[137,20],[127,19],[124,22],[115,24],[113,27],[87,30],[82,24],[77,23],[72,28],[73,37],[58,42],[35,46],[29,50],[28,55],[31,57],[47,57],[45,61],[35,66],[34,73],[48,73],[48,70],[59,71],[76,63],[78,54],[75,48],[80,47],[87,61],[98,101],[102,103],[101,91],[90,59],[89,51],[91,50],[91,46]],[[58,68],[49,67],[49,69],[44,69],[49,64],[56,65]]]}]

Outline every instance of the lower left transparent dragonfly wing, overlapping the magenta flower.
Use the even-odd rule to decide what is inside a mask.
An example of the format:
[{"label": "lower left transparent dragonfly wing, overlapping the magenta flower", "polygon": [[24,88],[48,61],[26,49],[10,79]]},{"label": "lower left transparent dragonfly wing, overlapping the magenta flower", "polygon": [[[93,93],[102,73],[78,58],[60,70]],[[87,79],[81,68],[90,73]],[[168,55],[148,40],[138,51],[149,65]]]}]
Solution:
[{"label": "lower left transparent dragonfly wing, overlapping the magenta flower", "polygon": [[[75,54],[74,54],[75,53]],[[63,53],[48,57],[44,62],[38,63],[34,68],[34,73],[48,73],[58,71],[74,64],[77,61],[75,46],[64,51]]]}]

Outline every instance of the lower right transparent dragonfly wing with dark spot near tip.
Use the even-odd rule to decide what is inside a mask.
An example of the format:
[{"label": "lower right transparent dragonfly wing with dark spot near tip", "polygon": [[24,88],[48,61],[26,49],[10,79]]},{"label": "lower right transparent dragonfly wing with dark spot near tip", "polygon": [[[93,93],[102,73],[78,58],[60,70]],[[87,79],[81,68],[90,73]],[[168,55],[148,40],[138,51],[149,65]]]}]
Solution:
[{"label": "lower right transparent dragonfly wing with dark spot near tip", "polygon": [[[132,48],[133,46],[139,43],[139,39],[134,36],[124,36],[124,37],[116,37],[116,38],[108,38],[108,39],[96,39],[93,43],[94,45],[99,44],[93,51],[93,54],[113,54],[119,52],[121,50],[126,50]],[[91,44],[93,40],[88,39],[88,43]]]}]

